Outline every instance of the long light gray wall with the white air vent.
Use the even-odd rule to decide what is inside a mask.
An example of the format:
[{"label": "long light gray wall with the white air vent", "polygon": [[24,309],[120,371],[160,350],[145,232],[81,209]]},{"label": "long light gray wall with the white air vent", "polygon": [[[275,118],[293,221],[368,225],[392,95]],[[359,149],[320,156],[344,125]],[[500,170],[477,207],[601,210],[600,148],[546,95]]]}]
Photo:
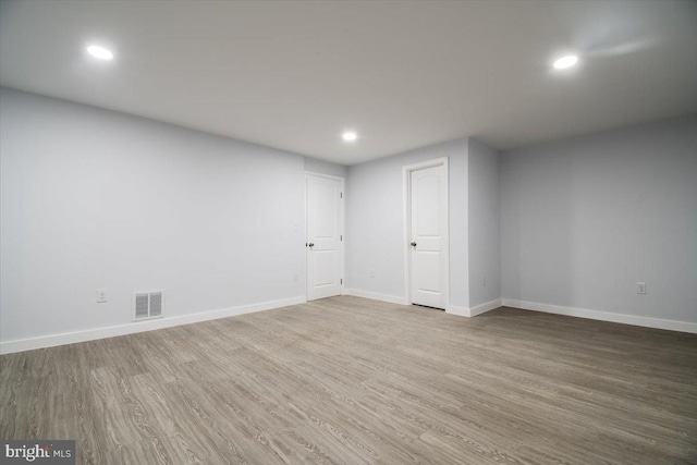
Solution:
[{"label": "long light gray wall with the white air vent", "polygon": [[0,127],[0,340],[304,295],[302,156],[10,89]]}]

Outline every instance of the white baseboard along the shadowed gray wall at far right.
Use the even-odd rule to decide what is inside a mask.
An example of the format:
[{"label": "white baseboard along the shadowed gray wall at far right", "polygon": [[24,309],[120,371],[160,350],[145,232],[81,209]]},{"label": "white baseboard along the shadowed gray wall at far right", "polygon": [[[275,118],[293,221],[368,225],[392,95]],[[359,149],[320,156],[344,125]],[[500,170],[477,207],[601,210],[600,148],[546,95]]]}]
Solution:
[{"label": "white baseboard along the shadowed gray wall at far right", "polygon": [[515,307],[524,310],[543,311],[546,314],[566,315],[570,317],[589,318],[591,320],[612,321],[615,323],[697,333],[697,323],[688,321],[664,320],[661,318],[639,317],[636,315],[613,314],[610,311],[563,307],[561,305],[538,304],[536,302],[515,301],[512,298],[504,298],[503,305],[506,307]]}]

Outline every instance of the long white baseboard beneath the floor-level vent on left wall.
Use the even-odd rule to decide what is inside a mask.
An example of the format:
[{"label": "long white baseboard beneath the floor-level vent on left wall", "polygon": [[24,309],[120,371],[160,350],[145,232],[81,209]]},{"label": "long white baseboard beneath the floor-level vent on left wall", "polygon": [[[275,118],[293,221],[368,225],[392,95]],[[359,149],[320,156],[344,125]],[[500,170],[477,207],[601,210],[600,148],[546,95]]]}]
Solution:
[{"label": "long white baseboard beneath the floor-level vent on left wall", "polygon": [[75,342],[94,341],[97,339],[113,338],[115,335],[134,334],[137,332],[152,331],[156,329],[171,328],[180,325],[189,325],[199,321],[216,320],[219,318],[234,317],[255,311],[270,310],[288,307],[307,302],[304,295],[283,298],[280,301],[262,302],[259,304],[242,305],[239,307],[221,308],[218,310],[203,311],[199,314],[182,315],[157,320],[147,320],[119,325],[107,328],[96,328],[84,331],[66,332],[62,334],[44,335],[39,338],[21,339],[0,343],[0,354],[33,351],[35,348],[53,347],[56,345],[73,344]]}]

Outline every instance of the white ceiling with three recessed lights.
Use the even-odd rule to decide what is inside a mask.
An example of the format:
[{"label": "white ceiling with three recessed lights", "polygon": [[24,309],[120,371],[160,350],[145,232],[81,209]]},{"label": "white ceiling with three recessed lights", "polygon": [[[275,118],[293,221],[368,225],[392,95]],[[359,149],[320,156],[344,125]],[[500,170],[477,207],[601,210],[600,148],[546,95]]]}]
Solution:
[{"label": "white ceiling with three recessed lights", "polygon": [[697,111],[697,2],[2,0],[0,83],[344,164],[505,149]]}]

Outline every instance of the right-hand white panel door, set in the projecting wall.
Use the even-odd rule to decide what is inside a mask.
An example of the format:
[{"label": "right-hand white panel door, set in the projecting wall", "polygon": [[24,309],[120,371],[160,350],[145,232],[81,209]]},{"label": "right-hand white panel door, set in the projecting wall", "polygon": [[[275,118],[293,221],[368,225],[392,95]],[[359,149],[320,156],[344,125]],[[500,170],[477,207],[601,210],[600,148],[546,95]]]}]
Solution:
[{"label": "right-hand white panel door, set in the projecting wall", "polygon": [[445,167],[412,171],[409,176],[412,303],[444,309],[448,279]]}]

